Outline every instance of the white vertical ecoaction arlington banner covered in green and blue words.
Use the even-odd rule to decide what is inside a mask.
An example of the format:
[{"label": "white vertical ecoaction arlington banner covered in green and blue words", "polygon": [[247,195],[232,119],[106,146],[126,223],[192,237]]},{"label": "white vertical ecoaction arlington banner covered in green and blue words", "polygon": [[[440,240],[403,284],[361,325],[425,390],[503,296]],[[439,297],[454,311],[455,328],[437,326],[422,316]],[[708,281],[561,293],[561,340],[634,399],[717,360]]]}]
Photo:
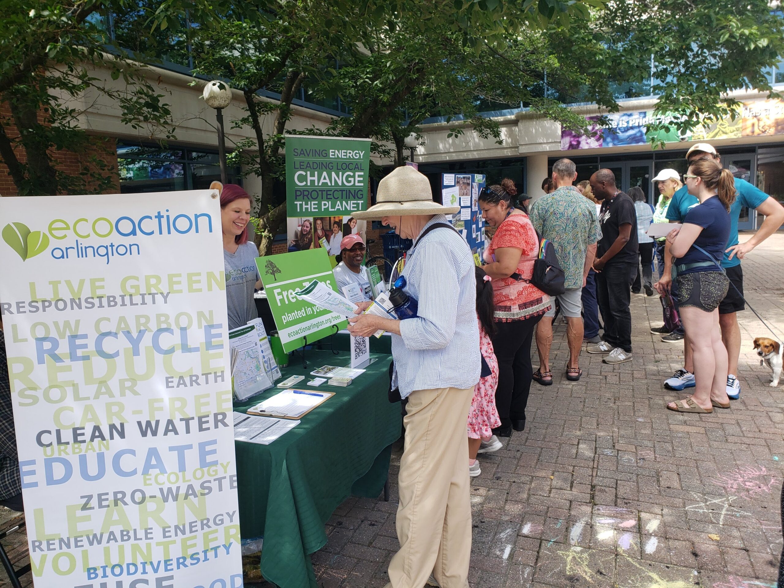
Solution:
[{"label": "white vertical ecoaction arlington banner covered in green and blue words", "polygon": [[213,191],[0,198],[0,306],[38,588],[239,588]]}]

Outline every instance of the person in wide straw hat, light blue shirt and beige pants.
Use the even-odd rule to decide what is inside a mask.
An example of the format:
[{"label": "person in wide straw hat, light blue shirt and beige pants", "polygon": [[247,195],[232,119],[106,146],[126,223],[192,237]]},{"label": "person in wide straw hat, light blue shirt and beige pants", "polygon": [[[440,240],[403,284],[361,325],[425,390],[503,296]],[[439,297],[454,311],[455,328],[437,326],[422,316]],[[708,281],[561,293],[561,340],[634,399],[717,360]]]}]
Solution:
[{"label": "person in wide straw hat, light blue shirt and beige pants", "polygon": [[354,218],[380,218],[401,238],[414,240],[402,275],[408,296],[419,303],[418,316],[404,321],[371,314],[350,319],[354,336],[379,328],[392,333],[392,387],[408,400],[398,474],[401,548],[390,562],[387,586],[419,588],[437,580],[445,588],[468,588],[466,423],[481,372],[474,258],[445,216],[459,206],[434,202],[430,182],[411,166],[381,180],[377,202]]}]

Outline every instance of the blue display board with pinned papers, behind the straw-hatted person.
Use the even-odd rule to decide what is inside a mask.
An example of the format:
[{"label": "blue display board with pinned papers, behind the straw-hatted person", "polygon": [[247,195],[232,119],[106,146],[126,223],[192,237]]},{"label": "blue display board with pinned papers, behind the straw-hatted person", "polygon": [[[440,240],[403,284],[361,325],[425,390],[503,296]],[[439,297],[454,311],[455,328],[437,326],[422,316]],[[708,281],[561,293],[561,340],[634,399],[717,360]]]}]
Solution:
[{"label": "blue display board with pinned papers, behind the straw-hatted person", "polygon": [[485,252],[485,220],[479,210],[479,193],[485,187],[483,173],[442,173],[441,204],[460,206],[450,219],[468,241],[471,252],[481,258]]}]

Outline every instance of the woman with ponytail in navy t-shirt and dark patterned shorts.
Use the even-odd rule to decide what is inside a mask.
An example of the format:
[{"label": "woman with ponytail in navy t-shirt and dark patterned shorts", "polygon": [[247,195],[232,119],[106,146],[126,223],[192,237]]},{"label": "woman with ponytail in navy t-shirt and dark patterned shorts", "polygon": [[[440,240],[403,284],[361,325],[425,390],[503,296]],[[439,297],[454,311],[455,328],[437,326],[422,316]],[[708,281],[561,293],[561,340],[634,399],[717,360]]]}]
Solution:
[{"label": "woman with ponytail in navy t-shirt and dark patterned shorts", "polygon": [[667,235],[677,272],[678,310],[694,354],[695,392],[670,402],[676,412],[713,412],[729,408],[727,349],[721,341],[719,303],[729,279],[720,267],[730,234],[729,210],[735,201],[735,178],[713,159],[699,159],[684,174],[688,193],[699,205],[689,209],[681,229]]}]

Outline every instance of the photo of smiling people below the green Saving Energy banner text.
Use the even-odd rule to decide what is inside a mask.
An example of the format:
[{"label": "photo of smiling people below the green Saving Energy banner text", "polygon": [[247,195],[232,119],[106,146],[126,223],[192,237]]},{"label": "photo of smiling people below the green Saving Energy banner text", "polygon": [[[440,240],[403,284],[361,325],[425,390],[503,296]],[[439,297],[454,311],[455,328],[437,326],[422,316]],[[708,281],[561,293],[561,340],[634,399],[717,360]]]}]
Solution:
[{"label": "photo of smiling people below the green Saving Energy banner text", "polygon": [[353,216],[291,217],[287,219],[289,252],[325,247],[331,256],[340,255],[340,241],[350,234],[359,234],[367,242],[366,220]]}]

